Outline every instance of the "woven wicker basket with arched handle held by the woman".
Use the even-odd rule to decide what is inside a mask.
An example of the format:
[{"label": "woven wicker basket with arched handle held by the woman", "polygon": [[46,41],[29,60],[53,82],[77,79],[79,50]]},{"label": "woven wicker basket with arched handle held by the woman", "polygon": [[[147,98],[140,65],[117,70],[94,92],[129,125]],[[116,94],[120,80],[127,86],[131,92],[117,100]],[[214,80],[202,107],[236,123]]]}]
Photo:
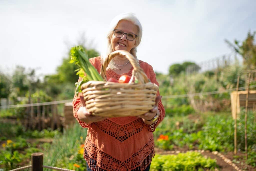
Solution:
[{"label": "woven wicker basket with arched handle held by the woman", "polygon": [[[105,59],[100,75],[106,80],[106,68],[115,56],[125,56],[132,64],[129,83],[88,81],[81,89],[86,108],[92,115],[106,117],[138,116],[153,109],[158,86],[149,81],[135,58],[127,51],[117,50]],[[138,80],[135,84],[133,78]]]}]

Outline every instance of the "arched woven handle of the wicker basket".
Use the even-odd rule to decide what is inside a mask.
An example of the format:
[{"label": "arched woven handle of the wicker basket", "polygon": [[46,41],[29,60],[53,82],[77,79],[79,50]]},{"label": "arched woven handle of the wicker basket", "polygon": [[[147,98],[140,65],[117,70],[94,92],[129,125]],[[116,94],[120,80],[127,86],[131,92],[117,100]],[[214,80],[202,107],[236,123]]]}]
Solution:
[{"label": "arched woven handle of the wicker basket", "polygon": [[[116,50],[116,51],[110,53],[109,56],[104,60],[102,66],[101,66],[100,75],[102,76],[102,78],[105,81],[107,81],[107,78],[106,78],[106,68],[108,67],[109,62],[115,56],[124,56],[124,57],[126,57],[131,62],[132,66],[133,66],[131,80],[133,79],[133,77],[135,77],[135,78],[137,78],[139,84],[150,82],[150,80],[147,78],[147,75],[145,74],[143,69],[136,62],[134,56],[132,54],[130,54],[129,52],[125,51],[125,50]],[[131,83],[131,81],[129,83]]]}]

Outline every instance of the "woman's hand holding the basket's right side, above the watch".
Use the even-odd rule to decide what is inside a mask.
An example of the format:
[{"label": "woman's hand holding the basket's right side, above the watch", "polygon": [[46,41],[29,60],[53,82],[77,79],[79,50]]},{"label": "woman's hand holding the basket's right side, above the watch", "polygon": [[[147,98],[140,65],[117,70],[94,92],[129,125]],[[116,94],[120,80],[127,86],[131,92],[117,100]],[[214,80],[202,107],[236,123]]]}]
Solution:
[{"label": "woman's hand holding the basket's right side, above the watch", "polygon": [[156,114],[158,114],[158,116],[159,116],[158,103],[161,100],[161,98],[162,98],[162,96],[157,96],[154,108],[152,110],[150,110],[149,112],[147,112],[143,115],[139,115],[137,117],[141,118],[145,124],[152,124],[152,122],[150,120],[152,120],[156,116]]}]

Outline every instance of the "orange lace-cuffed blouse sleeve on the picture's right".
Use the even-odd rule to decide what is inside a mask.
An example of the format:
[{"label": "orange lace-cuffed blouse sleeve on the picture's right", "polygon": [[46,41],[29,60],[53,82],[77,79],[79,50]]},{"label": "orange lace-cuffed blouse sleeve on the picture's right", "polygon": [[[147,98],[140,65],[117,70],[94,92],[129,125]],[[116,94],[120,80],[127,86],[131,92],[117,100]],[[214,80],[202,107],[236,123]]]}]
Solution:
[{"label": "orange lace-cuffed blouse sleeve on the picture's right", "polygon": [[[150,71],[149,71],[149,72],[150,72],[150,81],[151,81],[152,83],[157,84],[157,86],[159,86],[158,82],[156,81],[156,74],[155,74],[155,72],[154,72],[152,66],[150,66]],[[159,91],[157,92],[156,96],[159,96]],[[156,129],[156,127],[157,127],[157,125],[158,125],[160,122],[162,122],[163,119],[164,119],[165,110],[164,110],[164,106],[163,106],[161,100],[160,100],[159,103],[158,103],[158,110],[159,110],[160,115],[159,115],[157,121],[156,121],[155,123],[150,124],[150,125],[147,125],[147,124],[146,124],[146,125],[148,126],[148,131],[150,131],[150,132],[154,132],[155,129]]]}]

